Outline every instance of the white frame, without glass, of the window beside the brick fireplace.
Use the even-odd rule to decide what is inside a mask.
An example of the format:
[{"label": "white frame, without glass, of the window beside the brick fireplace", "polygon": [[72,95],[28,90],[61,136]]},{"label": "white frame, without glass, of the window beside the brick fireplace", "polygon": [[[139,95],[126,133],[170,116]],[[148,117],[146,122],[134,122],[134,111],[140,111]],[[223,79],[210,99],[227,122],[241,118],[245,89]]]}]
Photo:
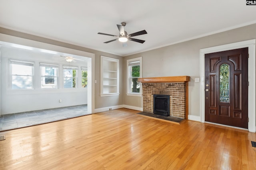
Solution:
[{"label": "white frame, without glass, of the window beside the brick fireplace", "polygon": [[130,71],[130,63],[132,62],[135,62],[135,61],[138,61],[139,65],[140,65],[140,76],[138,78],[142,78],[142,57],[137,57],[137,58],[134,58],[134,59],[128,59],[127,60],[127,93],[126,95],[127,96],[142,96],[142,83],[140,82],[140,92],[132,92],[132,89],[131,89],[131,71]]}]

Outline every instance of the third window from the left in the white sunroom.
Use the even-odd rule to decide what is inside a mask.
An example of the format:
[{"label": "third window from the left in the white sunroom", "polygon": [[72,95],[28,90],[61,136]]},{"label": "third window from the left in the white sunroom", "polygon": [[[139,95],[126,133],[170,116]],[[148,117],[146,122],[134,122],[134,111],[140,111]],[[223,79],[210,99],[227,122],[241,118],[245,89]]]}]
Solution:
[{"label": "third window from the left in the white sunroom", "polygon": [[63,66],[64,88],[76,88],[78,66]]}]

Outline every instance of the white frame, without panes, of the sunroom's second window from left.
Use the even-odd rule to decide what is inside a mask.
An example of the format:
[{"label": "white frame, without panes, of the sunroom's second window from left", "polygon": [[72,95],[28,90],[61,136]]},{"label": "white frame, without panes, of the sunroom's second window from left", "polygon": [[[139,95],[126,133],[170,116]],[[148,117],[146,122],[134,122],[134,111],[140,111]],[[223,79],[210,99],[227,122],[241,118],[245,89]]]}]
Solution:
[{"label": "white frame, without panes, of the sunroom's second window from left", "polygon": [[[52,67],[52,68],[57,68],[56,69],[56,75],[55,76],[46,76],[46,75],[42,75],[42,67]],[[41,89],[58,89],[59,88],[59,64],[52,64],[52,63],[39,63],[39,69],[40,69],[40,88]],[[52,84],[45,84],[45,80],[44,80],[44,84],[42,82],[42,78],[54,78],[54,85]],[[55,81],[56,79],[56,81]],[[45,86],[45,88],[43,88]],[[52,87],[52,88],[47,88],[47,87],[50,87],[50,86],[55,86],[55,87]]]}]

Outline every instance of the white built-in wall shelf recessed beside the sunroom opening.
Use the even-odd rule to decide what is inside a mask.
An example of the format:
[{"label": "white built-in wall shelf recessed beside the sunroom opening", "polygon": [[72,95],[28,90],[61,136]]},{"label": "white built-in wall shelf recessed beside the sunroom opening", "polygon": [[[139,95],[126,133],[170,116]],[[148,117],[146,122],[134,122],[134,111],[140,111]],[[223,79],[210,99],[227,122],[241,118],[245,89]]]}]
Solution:
[{"label": "white built-in wall shelf recessed beside the sunroom opening", "polygon": [[100,96],[119,95],[119,60],[101,56]]}]

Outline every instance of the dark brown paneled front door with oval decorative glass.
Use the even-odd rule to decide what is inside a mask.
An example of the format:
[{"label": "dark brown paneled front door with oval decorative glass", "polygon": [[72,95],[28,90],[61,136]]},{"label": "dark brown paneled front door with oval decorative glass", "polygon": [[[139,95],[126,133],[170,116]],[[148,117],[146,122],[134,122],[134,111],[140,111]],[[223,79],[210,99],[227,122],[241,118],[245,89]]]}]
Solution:
[{"label": "dark brown paneled front door with oval decorative glass", "polygon": [[205,55],[205,121],[248,129],[248,48]]}]

